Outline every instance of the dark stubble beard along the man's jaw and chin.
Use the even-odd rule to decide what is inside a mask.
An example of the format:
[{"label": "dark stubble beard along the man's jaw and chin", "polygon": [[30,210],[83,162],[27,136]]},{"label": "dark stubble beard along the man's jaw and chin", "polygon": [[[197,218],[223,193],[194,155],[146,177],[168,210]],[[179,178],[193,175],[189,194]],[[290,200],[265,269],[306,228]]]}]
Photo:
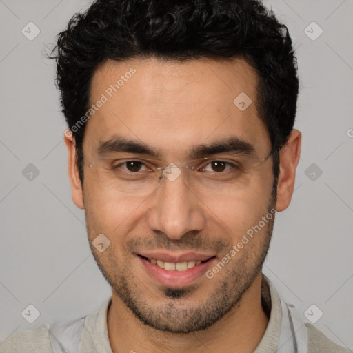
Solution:
[{"label": "dark stubble beard along the man's jaw and chin", "polygon": [[[270,209],[268,212],[270,212]],[[263,237],[260,252],[257,250],[256,253],[256,249],[250,241],[241,250],[242,254],[239,252],[241,256],[236,254],[234,259],[226,264],[219,274],[216,274],[213,279],[207,280],[210,281],[210,285],[213,285],[212,281],[219,281],[219,284],[203,301],[195,301],[194,293],[197,288],[194,287],[163,288],[159,298],[157,298],[141,283],[143,279],[134,276],[128,265],[117,259],[114,252],[110,252],[109,257],[105,256],[103,258],[100,253],[97,253],[97,250],[94,251],[92,248],[92,241],[90,241],[90,246],[99,270],[101,270],[114,293],[119,296],[137,319],[156,330],[173,334],[186,334],[205,330],[231,310],[236,310],[239,307],[243,295],[261,272],[270,246],[273,224],[274,216],[265,225],[263,232],[256,234],[258,237]],[[91,239],[90,236],[97,233],[93,231],[92,227],[88,226],[88,234]],[[228,252],[229,250],[228,248]],[[219,280],[220,278],[221,280]],[[203,293],[207,290],[207,285],[208,283],[201,290]],[[192,302],[188,301],[189,296]]]}]

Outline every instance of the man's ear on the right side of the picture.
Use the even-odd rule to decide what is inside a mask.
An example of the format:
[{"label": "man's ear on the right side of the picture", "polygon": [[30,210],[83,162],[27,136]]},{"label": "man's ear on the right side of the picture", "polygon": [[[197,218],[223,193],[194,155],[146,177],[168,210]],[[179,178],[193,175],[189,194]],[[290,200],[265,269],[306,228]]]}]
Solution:
[{"label": "man's ear on the right side of the picture", "polygon": [[301,156],[301,132],[292,130],[287,143],[279,152],[279,179],[277,183],[276,210],[288,208],[294,190],[296,166]]}]

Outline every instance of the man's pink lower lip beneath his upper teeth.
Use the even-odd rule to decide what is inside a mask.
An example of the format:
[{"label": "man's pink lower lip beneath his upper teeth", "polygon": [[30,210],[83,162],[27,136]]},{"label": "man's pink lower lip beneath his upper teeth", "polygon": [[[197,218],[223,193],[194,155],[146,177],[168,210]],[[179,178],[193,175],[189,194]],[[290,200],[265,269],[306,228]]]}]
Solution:
[{"label": "man's pink lower lip beneath his upper teeth", "polygon": [[141,263],[145,266],[148,274],[153,279],[164,285],[165,287],[179,288],[191,285],[202,276],[205,276],[205,272],[210,268],[212,261],[215,259],[212,257],[208,261],[202,262],[199,265],[194,265],[193,268],[188,268],[185,271],[177,270],[165,270],[157,265],[154,265],[150,261],[143,259],[141,256],[137,256]]}]

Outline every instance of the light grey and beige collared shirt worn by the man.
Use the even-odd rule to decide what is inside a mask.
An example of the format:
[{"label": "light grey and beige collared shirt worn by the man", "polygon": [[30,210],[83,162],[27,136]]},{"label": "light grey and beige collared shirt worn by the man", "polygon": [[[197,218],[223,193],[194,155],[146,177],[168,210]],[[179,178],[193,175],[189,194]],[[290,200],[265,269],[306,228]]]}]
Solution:
[{"label": "light grey and beige collared shirt worn by the man", "polygon": [[[303,323],[294,308],[279,298],[274,285],[263,275],[261,299],[270,313],[268,326],[254,353],[349,353],[352,352]],[[112,353],[108,337],[108,309],[112,297],[101,309],[80,319],[44,323],[36,330],[15,332],[0,343],[0,353]]]}]

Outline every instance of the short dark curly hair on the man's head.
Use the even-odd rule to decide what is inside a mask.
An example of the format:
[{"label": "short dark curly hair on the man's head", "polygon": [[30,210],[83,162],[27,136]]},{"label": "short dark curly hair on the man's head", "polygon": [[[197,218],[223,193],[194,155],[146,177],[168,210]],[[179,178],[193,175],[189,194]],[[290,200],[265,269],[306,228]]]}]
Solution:
[{"label": "short dark curly hair on the man's head", "polygon": [[[92,74],[108,59],[245,59],[259,75],[256,109],[272,143],[276,188],[279,151],[294,125],[299,80],[288,28],[261,1],[96,0],[58,34],[56,50],[56,82],[70,129],[88,111]],[[74,130],[83,183],[85,126]]]}]

